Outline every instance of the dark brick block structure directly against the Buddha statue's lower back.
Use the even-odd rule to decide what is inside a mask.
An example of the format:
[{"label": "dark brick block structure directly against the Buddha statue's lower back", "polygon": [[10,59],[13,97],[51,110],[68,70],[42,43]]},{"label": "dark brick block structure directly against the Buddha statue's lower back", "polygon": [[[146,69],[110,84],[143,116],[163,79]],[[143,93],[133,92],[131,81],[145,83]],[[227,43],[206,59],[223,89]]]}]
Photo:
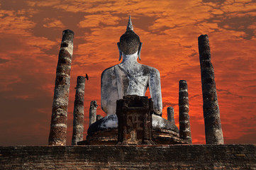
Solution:
[{"label": "dark brick block structure directly against the Buddha statue's lower back", "polygon": [[154,145],[153,103],[148,96],[128,95],[116,101],[118,145]]}]

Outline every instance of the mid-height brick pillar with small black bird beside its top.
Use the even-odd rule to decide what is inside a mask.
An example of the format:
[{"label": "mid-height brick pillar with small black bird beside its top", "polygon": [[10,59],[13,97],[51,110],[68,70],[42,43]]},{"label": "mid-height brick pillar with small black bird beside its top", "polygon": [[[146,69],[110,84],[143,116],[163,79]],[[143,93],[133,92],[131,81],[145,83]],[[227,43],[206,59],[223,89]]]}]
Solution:
[{"label": "mid-height brick pillar with small black bird beside its top", "polygon": [[84,132],[84,84],[85,77],[77,77],[77,90],[74,99],[74,119],[73,119],[73,135],[72,145],[83,140]]}]

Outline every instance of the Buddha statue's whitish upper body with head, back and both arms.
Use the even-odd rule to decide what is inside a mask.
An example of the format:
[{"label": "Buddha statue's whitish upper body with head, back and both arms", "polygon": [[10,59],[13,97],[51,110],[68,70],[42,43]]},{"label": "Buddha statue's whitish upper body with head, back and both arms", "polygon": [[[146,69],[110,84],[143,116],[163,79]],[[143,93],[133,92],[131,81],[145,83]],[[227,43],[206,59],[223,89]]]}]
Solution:
[{"label": "Buddha statue's whitish upper body with head, back and both arms", "polygon": [[154,67],[138,63],[142,42],[133,32],[129,17],[126,33],[117,43],[120,64],[101,74],[101,108],[106,115],[116,114],[116,101],[126,95],[145,96],[149,88],[156,115],[162,115],[160,72]]}]

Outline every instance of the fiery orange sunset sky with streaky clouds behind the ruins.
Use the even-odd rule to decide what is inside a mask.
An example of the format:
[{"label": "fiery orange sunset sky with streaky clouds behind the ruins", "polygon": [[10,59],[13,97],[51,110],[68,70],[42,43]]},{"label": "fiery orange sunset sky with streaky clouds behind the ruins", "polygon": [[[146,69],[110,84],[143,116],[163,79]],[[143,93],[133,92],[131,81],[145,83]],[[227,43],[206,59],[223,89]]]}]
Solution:
[{"label": "fiery orange sunset sky with streaky clouds behind the ruins", "polygon": [[143,42],[141,64],[161,74],[163,117],[174,107],[179,125],[179,80],[189,87],[194,144],[204,144],[197,38],[207,34],[215,71],[224,142],[256,143],[255,0],[0,0],[0,145],[48,145],[62,30],[74,31],[67,145],[71,144],[77,76],[89,75],[89,104],[101,111],[104,69],[118,64],[116,42],[131,15]]}]

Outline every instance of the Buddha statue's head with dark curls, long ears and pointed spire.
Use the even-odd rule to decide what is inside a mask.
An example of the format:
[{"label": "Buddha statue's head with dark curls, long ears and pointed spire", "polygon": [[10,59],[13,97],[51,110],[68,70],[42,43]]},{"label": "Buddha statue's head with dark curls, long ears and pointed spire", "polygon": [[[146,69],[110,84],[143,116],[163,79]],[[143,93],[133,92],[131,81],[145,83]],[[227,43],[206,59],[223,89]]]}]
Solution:
[{"label": "Buddha statue's head with dark curls, long ears and pointed spire", "polygon": [[119,50],[119,61],[122,55],[133,55],[138,52],[138,57],[140,59],[140,50],[142,46],[140,42],[140,37],[133,31],[133,23],[129,16],[128,26],[126,28],[126,33],[121,35],[120,42],[117,42]]}]

